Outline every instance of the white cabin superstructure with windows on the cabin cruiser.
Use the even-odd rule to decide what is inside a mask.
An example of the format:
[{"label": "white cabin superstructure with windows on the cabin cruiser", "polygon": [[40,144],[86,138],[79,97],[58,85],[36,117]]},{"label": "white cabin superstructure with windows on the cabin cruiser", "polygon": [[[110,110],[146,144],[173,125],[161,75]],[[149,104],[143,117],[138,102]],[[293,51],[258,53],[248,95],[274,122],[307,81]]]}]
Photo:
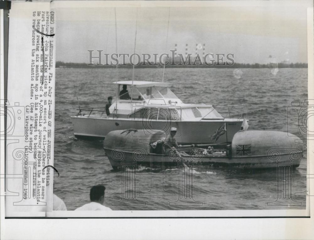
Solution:
[{"label": "white cabin superstructure with windows on the cabin cruiser", "polygon": [[113,117],[151,120],[222,120],[211,105],[184,104],[170,89],[171,83],[118,81]]}]

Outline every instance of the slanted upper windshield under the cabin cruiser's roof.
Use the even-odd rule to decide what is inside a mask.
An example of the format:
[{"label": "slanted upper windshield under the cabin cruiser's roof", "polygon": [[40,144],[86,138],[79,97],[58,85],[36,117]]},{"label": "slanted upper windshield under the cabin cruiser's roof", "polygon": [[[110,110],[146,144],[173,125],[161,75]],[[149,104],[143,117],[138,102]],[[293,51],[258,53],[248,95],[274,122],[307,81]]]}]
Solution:
[{"label": "slanted upper windshield under the cabin cruiser's roof", "polygon": [[168,87],[144,87],[137,88],[137,90],[143,95],[144,99],[178,99],[178,97]]}]

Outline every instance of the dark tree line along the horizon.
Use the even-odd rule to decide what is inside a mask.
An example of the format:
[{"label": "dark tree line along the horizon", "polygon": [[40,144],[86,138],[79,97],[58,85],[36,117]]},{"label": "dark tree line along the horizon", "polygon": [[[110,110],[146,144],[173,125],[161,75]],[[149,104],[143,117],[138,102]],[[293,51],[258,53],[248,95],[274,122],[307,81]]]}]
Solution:
[{"label": "dark tree line along the horizon", "polygon": [[[231,66],[228,65],[217,65],[214,63],[211,66],[207,65],[167,65],[166,68],[307,68],[307,63],[270,63],[270,64],[249,64],[249,63],[234,63]],[[87,63],[64,63],[62,61],[56,62],[56,68],[116,68],[114,65],[88,65]],[[133,68],[133,65],[118,65],[118,68]],[[139,64],[135,68],[163,68],[161,64],[158,65],[142,65]]]}]

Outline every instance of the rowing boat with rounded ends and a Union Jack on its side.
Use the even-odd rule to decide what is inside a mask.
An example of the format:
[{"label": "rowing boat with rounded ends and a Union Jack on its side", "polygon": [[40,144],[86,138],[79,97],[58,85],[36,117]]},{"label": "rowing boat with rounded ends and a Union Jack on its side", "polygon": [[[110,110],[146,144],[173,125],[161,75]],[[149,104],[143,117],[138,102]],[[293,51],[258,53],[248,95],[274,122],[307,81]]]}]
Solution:
[{"label": "rowing boat with rounded ends and a Union Jack on its side", "polygon": [[274,168],[281,162],[298,167],[306,145],[297,136],[279,131],[237,132],[231,143],[182,146],[165,151],[163,131],[116,130],[108,133],[104,150],[113,169],[123,163],[170,166],[178,162],[236,168]]}]

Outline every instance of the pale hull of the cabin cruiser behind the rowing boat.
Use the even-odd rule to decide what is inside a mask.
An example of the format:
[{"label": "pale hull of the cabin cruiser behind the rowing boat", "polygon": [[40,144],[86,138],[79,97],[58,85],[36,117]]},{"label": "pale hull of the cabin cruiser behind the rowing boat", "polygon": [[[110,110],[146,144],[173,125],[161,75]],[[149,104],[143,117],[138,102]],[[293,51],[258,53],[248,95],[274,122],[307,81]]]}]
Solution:
[{"label": "pale hull of the cabin cruiser behind the rowing boat", "polygon": [[[71,117],[74,125],[74,135],[76,137],[104,139],[110,131],[125,129],[157,129],[167,131],[171,127],[177,128],[176,141],[180,144],[211,144],[231,142],[233,135],[240,130],[241,119],[232,120],[202,120],[202,121],[162,121],[150,120],[149,123],[143,120],[123,119],[123,118],[101,118],[92,116],[75,116]],[[210,139],[216,130],[226,122],[226,133],[219,136],[216,141]]]}]

